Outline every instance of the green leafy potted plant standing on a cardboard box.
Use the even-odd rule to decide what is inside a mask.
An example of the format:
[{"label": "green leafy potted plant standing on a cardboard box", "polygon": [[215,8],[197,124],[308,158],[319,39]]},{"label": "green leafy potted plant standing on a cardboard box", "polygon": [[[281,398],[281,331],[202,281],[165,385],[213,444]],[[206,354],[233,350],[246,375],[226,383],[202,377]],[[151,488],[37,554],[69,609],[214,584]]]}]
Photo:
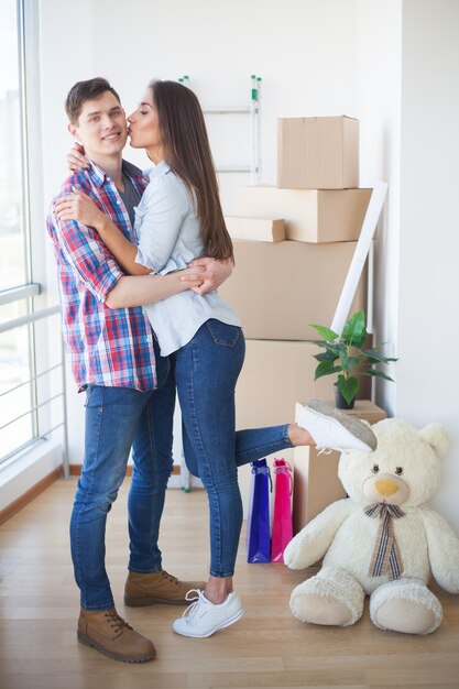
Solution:
[{"label": "green leafy potted plant standing on a cardboard box", "polygon": [[335,383],[337,407],[347,409],[353,407],[359,390],[359,381],[356,375],[352,375],[352,372],[356,373],[357,367],[359,367],[359,372],[364,375],[393,381],[386,373],[375,369],[375,365],[380,363],[396,361],[391,357],[384,357],[379,351],[385,342],[375,344],[371,349],[363,349],[368,337],[363,310],[358,311],[346,321],[341,337],[325,326],[312,324],[312,327],[324,338],[323,340],[315,340],[315,343],[325,349],[324,352],[315,354],[315,359],[319,363],[314,380],[317,381],[323,375],[338,373],[338,380]]}]

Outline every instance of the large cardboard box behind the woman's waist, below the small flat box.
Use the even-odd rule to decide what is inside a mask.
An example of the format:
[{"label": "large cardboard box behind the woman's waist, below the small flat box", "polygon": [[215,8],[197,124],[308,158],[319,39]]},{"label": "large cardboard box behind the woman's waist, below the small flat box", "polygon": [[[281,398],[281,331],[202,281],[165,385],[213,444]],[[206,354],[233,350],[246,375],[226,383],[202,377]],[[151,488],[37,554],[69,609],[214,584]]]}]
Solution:
[{"label": "large cardboard box behind the woman's waist, below the small flat box", "polygon": [[[234,240],[236,267],[219,295],[238,311],[245,338],[313,340],[309,324],[330,325],[356,242]],[[367,272],[351,314],[367,305]]]}]

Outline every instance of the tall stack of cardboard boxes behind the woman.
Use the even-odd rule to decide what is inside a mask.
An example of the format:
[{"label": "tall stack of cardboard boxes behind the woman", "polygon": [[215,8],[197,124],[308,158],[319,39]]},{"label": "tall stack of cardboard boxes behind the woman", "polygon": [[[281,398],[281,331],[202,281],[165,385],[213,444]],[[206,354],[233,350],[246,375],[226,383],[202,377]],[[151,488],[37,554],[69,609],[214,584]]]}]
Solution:
[{"label": "tall stack of cardboard boxes behind the woman", "polygon": [[[295,118],[278,121],[277,186],[238,190],[238,216],[227,218],[236,267],[219,291],[247,339],[238,428],[293,422],[297,402],[332,396],[330,378],[314,382],[310,324],[331,324],[371,196],[358,185],[358,120]],[[365,295],[363,275],[351,313]],[[362,379],[360,396],[369,392]],[[282,456],[293,463],[293,450]],[[247,515],[250,467],[239,478]]]}]

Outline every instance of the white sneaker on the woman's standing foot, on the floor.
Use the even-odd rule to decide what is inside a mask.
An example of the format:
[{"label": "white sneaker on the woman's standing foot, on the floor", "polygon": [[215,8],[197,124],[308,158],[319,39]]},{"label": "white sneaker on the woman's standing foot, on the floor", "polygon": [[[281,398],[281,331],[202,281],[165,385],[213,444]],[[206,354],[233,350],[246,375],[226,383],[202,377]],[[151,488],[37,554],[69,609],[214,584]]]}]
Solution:
[{"label": "white sneaker on the woman's standing foot, on the floor", "polygon": [[[193,595],[192,595],[193,594]],[[175,620],[172,628],[182,636],[205,638],[218,630],[233,624],[242,617],[244,609],[237,593],[229,593],[222,603],[211,603],[199,589],[192,589],[186,594],[193,601],[182,617]]]}]

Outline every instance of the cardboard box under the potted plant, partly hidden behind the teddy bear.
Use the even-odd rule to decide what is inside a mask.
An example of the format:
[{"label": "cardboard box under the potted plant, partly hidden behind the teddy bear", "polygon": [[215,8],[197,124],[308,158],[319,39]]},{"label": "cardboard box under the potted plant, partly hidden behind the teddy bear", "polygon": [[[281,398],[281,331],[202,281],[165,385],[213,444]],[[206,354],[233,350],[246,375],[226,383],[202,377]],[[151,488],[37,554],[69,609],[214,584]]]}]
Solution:
[{"label": "cardboard box under the potted plant, partly hidden behind the teddy bear", "polygon": [[[296,405],[298,419],[303,404]],[[375,424],[386,417],[381,407],[368,400],[358,400],[346,414]],[[346,497],[338,479],[339,452],[319,455],[315,447],[294,449],[293,533],[297,534],[310,520],[336,500]]]}]

